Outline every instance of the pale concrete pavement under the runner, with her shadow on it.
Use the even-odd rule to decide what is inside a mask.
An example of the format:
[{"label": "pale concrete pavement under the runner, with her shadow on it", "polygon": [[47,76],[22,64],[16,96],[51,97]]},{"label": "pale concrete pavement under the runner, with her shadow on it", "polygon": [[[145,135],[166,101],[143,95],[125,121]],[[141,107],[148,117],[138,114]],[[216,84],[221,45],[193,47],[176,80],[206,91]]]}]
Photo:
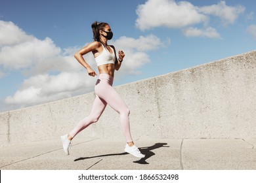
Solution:
[{"label": "pale concrete pavement under the runner, with her shadow on it", "polygon": [[135,139],[145,158],[123,151],[124,139],[60,139],[0,148],[0,169],[256,170],[256,139]]}]

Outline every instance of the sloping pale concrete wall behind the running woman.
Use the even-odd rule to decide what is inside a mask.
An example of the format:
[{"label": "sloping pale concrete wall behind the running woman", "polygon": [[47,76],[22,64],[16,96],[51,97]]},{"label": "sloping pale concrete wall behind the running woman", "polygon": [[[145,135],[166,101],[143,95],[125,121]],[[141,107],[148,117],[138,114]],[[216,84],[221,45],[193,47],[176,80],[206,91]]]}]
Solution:
[{"label": "sloping pale concrete wall behind the running woman", "polygon": [[[256,51],[116,87],[139,137],[256,137]],[[85,118],[94,93],[0,114],[2,146],[59,138]],[[119,116],[102,118],[77,137],[123,138]]]}]

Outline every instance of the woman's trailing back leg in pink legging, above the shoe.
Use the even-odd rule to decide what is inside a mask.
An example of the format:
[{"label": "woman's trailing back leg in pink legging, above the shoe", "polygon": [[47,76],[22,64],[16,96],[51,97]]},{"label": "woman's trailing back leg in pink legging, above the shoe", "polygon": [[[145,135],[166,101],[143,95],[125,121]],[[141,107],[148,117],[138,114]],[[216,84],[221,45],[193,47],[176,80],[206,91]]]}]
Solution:
[{"label": "woman's trailing back leg in pink legging, above the shoe", "polygon": [[106,108],[106,105],[107,105],[106,101],[104,101],[103,99],[100,99],[96,95],[95,101],[93,103],[93,107],[91,109],[91,114],[89,116],[87,116],[86,118],[84,118],[83,120],[81,120],[74,127],[74,129],[69,133],[69,135],[72,137],[72,139],[75,137],[75,135],[77,135],[77,133],[79,133],[80,131],[82,131],[83,129],[88,127],[89,125],[97,122],[98,118],[100,118],[102,112]]}]

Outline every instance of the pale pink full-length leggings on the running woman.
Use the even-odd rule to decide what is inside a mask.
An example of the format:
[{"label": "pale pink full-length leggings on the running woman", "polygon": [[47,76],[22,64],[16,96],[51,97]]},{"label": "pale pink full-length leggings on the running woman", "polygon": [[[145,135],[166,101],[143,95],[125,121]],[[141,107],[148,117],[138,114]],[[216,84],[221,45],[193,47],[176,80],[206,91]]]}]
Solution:
[{"label": "pale pink full-length leggings on the running woman", "polygon": [[129,124],[130,110],[127,108],[119,94],[112,87],[114,78],[108,74],[100,74],[95,85],[96,98],[91,109],[91,114],[81,120],[75,128],[70,132],[70,135],[74,138],[77,133],[95,123],[100,118],[102,112],[106,108],[106,105],[114,108],[116,112],[120,114],[121,128],[125,135],[126,142],[132,142]]}]

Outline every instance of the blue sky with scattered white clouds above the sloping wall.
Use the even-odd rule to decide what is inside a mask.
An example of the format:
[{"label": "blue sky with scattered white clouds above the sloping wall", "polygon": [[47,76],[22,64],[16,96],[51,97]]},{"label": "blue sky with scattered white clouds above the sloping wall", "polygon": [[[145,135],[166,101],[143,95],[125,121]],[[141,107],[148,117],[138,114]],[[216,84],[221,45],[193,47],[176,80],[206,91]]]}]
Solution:
[{"label": "blue sky with scattered white clouds above the sloping wall", "polygon": [[[96,3],[95,3],[96,2]],[[255,50],[255,1],[1,0],[0,111],[93,92],[74,53],[108,22],[124,50],[115,86]],[[92,54],[85,56],[96,65]]]}]

